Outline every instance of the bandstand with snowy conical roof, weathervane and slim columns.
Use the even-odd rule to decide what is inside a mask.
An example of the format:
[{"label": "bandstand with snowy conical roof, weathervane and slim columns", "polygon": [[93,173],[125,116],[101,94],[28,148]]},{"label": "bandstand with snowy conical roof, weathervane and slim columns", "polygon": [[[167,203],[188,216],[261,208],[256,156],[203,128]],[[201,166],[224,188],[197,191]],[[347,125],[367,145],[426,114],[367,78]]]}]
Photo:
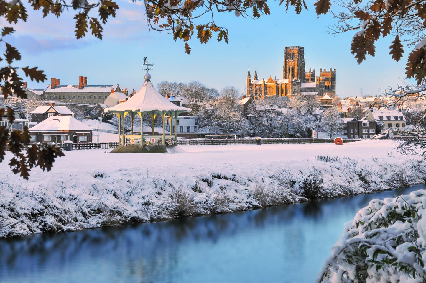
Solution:
[{"label": "bandstand with snowy conical roof, weathervane and slim columns", "polygon": [[[148,73],[150,70],[148,66],[152,64],[148,64],[145,58],[145,64],[147,65],[145,74],[145,82],[141,89],[136,92],[131,98],[127,101],[124,101],[120,104],[117,104],[113,107],[106,108],[104,112],[115,113],[118,117],[118,145],[128,145],[128,144],[140,144],[141,146],[148,141],[151,144],[162,144],[163,146],[166,144],[176,144],[177,141],[177,133],[176,133],[176,121],[177,116],[183,112],[191,111],[190,108],[180,107],[172,102],[168,101],[164,96],[162,96],[151,83],[151,75]],[[130,135],[126,134],[124,128],[124,118],[129,114],[132,120]],[[152,118],[152,135],[144,135],[143,132],[143,122],[144,115],[148,114]],[[134,118],[139,115],[141,118],[141,133],[136,134],[133,131],[133,121]],[[161,116],[162,119],[162,127],[163,133],[162,135],[155,135],[154,131],[154,121],[157,115]],[[170,131],[170,134],[164,133],[164,119],[166,116],[170,117],[170,121],[172,121],[172,117],[175,116],[175,133]],[[170,127],[172,128],[172,127]]]}]

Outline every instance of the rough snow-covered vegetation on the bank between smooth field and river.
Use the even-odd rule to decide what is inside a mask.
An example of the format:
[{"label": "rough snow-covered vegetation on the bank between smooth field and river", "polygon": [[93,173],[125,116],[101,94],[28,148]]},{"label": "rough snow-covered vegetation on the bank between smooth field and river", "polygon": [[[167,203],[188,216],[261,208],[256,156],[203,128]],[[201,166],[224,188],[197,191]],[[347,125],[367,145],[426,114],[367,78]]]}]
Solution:
[{"label": "rough snow-covered vegetation on the bank between smooth field and river", "polygon": [[74,173],[61,167],[65,163],[55,165],[53,173],[33,173],[35,179],[29,182],[3,178],[0,237],[243,211],[371,193],[426,179],[425,164],[392,156],[317,156],[244,166],[206,163],[185,170],[170,170],[169,164],[147,170],[144,162],[90,170],[81,163]]}]

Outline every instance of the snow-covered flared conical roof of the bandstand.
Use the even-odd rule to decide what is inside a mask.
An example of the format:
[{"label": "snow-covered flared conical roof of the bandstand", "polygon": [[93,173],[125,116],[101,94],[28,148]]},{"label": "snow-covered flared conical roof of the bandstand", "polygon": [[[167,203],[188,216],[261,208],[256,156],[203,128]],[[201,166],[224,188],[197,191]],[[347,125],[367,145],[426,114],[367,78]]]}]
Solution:
[{"label": "snow-covered flared conical roof of the bandstand", "polygon": [[151,81],[145,81],[141,89],[127,101],[105,109],[107,112],[123,111],[191,111],[191,108],[180,107],[164,98]]}]

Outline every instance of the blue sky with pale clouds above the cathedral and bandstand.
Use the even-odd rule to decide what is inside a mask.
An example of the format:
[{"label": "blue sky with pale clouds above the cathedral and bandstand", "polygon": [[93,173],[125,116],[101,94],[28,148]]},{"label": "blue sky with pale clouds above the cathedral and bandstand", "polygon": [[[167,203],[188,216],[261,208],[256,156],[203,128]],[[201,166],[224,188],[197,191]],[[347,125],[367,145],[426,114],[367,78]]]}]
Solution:
[{"label": "blue sky with pale clouds above the cathedral and bandstand", "polygon": [[[143,2],[117,0],[117,17],[104,26],[104,38],[88,34],[77,40],[72,11],[59,19],[40,11],[29,11],[26,23],[15,26],[17,32],[6,41],[22,53],[19,66],[38,66],[48,81],[29,82],[28,87],[44,88],[50,78],[61,84],[78,84],[78,76],[86,76],[88,84],[119,84],[122,89],[138,90],[143,83],[142,59],[147,56],[155,65],[151,81],[201,81],[207,87],[221,90],[232,85],[245,91],[248,66],[259,78],[282,78],[285,46],[303,46],[307,70],[320,67],[337,70],[337,95],[340,97],[379,95],[378,88],[396,87],[404,82],[404,68],[409,54],[406,49],[400,62],[389,55],[391,38],[380,39],[376,56],[357,64],[350,52],[352,33],[329,35],[327,26],[335,22],[331,15],[317,17],[314,1],[307,1],[308,11],[296,15],[285,12],[278,1],[268,3],[271,15],[260,19],[235,17],[218,13],[215,22],[229,29],[229,43],[210,40],[207,44],[190,40],[191,54],[184,52],[183,41],[174,41],[167,32],[149,31]],[[27,7],[29,10],[30,7]],[[0,18],[1,26],[6,22]],[[26,79],[24,79],[25,81]]]}]

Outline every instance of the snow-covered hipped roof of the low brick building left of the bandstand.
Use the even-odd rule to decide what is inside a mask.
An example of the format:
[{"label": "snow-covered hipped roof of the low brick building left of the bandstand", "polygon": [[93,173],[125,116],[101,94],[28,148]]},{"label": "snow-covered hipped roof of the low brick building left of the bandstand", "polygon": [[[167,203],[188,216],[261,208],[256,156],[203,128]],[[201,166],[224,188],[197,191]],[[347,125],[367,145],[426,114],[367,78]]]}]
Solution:
[{"label": "snow-covered hipped roof of the low brick building left of the bandstand", "polygon": [[30,132],[46,132],[46,131],[91,131],[92,128],[87,127],[72,116],[50,116],[46,120],[40,122],[30,128]]}]

